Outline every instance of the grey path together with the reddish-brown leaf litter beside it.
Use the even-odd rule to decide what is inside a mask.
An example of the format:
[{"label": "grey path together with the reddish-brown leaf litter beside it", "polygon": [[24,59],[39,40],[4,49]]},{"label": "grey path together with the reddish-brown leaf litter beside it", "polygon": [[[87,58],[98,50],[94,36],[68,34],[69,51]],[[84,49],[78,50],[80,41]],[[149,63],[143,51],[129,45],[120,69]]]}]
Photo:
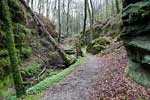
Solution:
[{"label": "grey path together with the reddish-brown leaf litter beside it", "polygon": [[75,71],[45,90],[41,100],[150,100],[150,88],[125,77],[126,64],[124,47],[103,56],[88,54]]}]

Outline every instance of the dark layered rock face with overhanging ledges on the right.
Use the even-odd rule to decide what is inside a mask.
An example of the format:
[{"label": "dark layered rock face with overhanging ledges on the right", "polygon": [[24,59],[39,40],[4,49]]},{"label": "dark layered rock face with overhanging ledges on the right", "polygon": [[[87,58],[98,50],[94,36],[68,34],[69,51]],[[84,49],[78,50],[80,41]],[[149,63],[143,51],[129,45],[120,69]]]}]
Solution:
[{"label": "dark layered rock face with overhanging ledges on the right", "polygon": [[124,0],[123,6],[121,38],[129,58],[126,73],[150,85],[150,0]]}]

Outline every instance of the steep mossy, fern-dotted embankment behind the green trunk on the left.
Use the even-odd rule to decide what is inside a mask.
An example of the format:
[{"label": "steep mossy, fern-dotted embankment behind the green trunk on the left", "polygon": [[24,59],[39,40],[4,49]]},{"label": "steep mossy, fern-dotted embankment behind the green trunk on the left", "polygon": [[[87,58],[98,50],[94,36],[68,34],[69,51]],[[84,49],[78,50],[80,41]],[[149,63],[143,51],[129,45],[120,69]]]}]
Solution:
[{"label": "steep mossy, fern-dotted embankment behind the green trunk on the left", "polygon": [[[45,35],[39,31],[32,17],[25,11],[23,6],[16,0],[8,0],[8,5],[13,22],[13,33],[21,74],[25,84],[29,86],[43,79],[43,77],[39,79],[39,75],[43,67],[52,63],[53,57],[60,57],[55,53],[55,49]],[[49,33],[53,37],[57,37],[55,25],[47,18],[40,15],[39,18],[44,22]],[[0,17],[0,99],[9,98],[15,92],[10,75],[6,34],[5,30],[2,29],[2,24],[3,19]],[[61,59],[57,61],[58,63],[62,62]],[[53,72],[53,70],[48,72],[52,74],[51,71]]]}]

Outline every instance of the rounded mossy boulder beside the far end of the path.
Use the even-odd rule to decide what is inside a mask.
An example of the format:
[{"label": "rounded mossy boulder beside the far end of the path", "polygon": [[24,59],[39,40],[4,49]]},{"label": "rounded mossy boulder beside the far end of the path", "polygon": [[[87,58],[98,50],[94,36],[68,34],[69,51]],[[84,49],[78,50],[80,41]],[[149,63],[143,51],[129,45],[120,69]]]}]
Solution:
[{"label": "rounded mossy boulder beside the far end of the path", "polygon": [[107,46],[110,44],[110,41],[105,37],[99,37],[89,43],[87,46],[87,52],[92,54],[98,54],[102,50],[106,49]]}]

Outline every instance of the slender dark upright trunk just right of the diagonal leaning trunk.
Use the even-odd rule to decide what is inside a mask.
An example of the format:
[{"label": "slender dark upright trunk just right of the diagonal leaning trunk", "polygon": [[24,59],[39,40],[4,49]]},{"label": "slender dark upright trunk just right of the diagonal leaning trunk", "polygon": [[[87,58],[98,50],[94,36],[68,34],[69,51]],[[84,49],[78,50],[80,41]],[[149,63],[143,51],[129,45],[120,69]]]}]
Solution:
[{"label": "slender dark upright trunk just right of the diagonal leaning trunk", "polygon": [[61,41],[61,22],[60,22],[60,0],[58,0],[58,42]]}]

